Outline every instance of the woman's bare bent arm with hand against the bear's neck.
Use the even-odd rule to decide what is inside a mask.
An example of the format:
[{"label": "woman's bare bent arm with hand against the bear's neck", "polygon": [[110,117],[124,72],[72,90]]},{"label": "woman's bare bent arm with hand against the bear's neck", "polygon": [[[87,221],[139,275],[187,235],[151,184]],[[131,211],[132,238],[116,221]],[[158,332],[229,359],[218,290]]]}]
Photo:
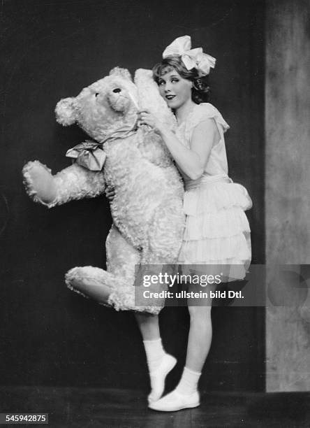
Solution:
[{"label": "woman's bare bent arm with hand against the bear's neck", "polygon": [[212,118],[200,122],[191,136],[191,148],[186,148],[181,141],[166,128],[156,117],[149,113],[141,113],[141,122],[154,127],[167,145],[173,159],[179,169],[191,180],[197,180],[202,176],[212,146],[219,141],[219,131]]}]

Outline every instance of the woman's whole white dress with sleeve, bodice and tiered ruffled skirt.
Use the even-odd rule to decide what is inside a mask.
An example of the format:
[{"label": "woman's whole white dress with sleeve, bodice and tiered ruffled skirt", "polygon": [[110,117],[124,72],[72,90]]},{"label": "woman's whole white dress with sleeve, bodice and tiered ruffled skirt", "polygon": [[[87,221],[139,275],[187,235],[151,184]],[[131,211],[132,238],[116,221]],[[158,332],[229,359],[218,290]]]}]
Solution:
[{"label": "woman's whole white dress with sleeve, bodice and tiered ruffled skirt", "polygon": [[250,227],[244,211],[252,206],[246,189],[228,177],[223,134],[229,126],[212,104],[202,103],[194,106],[176,135],[190,148],[193,129],[210,117],[221,138],[212,147],[202,177],[184,177],[186,227],[179,264],[212,265],[208,273],[221,272],[222,282],[227,282],[244,278],[251,263]]}]

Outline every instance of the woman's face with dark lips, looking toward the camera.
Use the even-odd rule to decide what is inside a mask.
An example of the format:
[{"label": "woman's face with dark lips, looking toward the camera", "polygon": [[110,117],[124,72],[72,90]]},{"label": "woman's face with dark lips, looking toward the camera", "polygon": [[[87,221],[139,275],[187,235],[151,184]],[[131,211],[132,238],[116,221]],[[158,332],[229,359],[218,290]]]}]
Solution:
[{"label": "woman's face with dark lips, looking toward the camera", "polygon": [[175,69],[159,78],[158,87],[170,108],[177,109],[191,100],[191,80],[182,78]]}]

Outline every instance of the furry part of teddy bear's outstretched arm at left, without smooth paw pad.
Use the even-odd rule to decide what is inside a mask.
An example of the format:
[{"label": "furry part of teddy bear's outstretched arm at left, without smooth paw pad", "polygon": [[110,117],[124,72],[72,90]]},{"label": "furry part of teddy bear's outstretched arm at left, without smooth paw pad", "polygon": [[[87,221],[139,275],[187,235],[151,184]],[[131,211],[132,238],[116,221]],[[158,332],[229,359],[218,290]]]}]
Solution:
[{"label": "furry part of teddy bear's outstretched arm at left, without smooth paw pad", "polygon": [[54,185],[57,190],[56,199],[49,204],[66,204],[68,201],[84,198],[94,198],[103,194],[105,180],[103,171],[89,171],[78,164],[72,164],[54,176]]}]

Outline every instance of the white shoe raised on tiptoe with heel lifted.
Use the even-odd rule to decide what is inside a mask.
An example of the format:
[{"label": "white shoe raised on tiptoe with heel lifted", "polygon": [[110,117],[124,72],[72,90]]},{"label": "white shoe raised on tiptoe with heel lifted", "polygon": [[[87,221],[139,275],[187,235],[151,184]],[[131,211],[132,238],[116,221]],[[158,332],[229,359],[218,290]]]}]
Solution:
[{"label": "white shoe raised on tiptoe with heel lifted", "polygon": [[151,392],[147,397],[147,401],[149,401],[149,403],[161,398],[163,390],[165,389],[165,378],[173,369],[175,364],[177,364],[177,359],[172,357],[172,355],[165,354],[158,368],[149,373],[149,378],[151,380]]}]

